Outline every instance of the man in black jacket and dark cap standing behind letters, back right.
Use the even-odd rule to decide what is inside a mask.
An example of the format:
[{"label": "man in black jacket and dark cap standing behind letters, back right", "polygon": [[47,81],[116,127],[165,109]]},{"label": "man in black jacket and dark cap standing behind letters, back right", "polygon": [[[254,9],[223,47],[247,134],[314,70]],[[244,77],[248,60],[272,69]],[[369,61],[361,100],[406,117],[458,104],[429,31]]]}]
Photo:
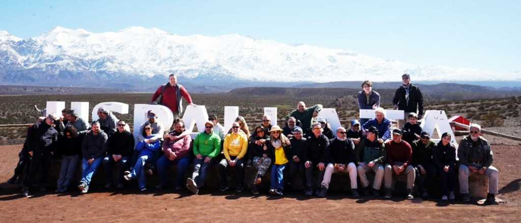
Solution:
[{"label": "man in black jacket and dark cap standing behind letters, back right", "polygon": [[403,85],[396,90],[392,100],[394,109],[404,111],[403,119],[398,120],[399,129],[404,126],[409,113],[416,113],[416,110],[418,110],[418,120],[423,117],[423,95],[420,89],[411,83],[411,76],[408,74],[402,75],[402,82]]}]

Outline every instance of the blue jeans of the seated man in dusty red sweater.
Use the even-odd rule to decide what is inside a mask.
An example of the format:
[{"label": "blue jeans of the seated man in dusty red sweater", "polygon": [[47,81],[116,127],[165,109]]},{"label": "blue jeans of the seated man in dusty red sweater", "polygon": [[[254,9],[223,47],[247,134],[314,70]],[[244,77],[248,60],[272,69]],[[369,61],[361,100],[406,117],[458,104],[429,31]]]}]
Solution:
[{"label": "blue jeans of the seated man in dusty red sweater", "polygon": [[177,164],[177,175],[176,175],[176,187],[182,187],[186,184],[186,175],[188,165],[190,165],[190,157],[184,156],[181,158],[176,158],[175,160],[169,160],[166,156],[161,156],[157,160],[157,173],[159,174],[159,185],[166,187],[167,186],[167,168],[172,164]]}]

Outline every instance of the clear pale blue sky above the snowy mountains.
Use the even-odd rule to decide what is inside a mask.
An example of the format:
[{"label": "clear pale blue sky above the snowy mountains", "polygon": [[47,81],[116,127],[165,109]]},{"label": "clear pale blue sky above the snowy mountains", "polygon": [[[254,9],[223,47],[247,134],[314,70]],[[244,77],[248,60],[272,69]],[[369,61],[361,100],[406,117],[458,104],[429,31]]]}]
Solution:
[{"label": "clear pale blue sky above the snowy mountains", "polygon": [[55,26],[90,32],[144,26],[179,35],[238,33],[418,65],[521,72],[519,1],[363,2],[2,1],[0,30],[21,38]]}]

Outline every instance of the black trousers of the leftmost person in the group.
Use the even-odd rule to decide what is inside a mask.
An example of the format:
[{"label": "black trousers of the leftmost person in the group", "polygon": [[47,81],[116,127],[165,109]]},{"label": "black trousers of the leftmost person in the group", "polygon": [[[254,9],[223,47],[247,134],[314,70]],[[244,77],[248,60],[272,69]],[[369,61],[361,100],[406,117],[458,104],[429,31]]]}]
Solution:
[{"label": "black trousers of the leftmost person in the group", "polygon": [[[47,176],[49,175],[49,168],[51,167],[52,155],[51,152],[36,152],[34,151],[31,158],[31,164],[27,171],[26,178],[23,181],[23,187],[31,187],[36,178],[36,173],[40,171],[40,179],[38,183],[47,183]],[[43,186],[43,185],[40,185]]]}]

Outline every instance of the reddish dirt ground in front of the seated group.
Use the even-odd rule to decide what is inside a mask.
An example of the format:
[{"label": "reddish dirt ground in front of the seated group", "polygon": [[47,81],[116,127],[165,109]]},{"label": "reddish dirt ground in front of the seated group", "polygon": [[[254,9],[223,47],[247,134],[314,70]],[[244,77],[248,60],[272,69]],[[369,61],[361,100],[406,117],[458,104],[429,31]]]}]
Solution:
[{"label": "reddish dirt ground in front of the seated group", "polygon": [[[502,142],[506,145],[493,145],[493,165],[500,170],[498,198],[506,201],[500,205],[445,204],[438,200],[400,198],[356,200],[341,193],[333,193],[327,199],[307,198],[299,192],[290,192],[282,198],[265,194],[254,197],[246,190],[239,195],[212,191],[193,196],[185,191],[140,193],[132,189],[114,192],[96,188],[81,196],[74,191],[59,195],[35,193],[32,198],[25,198],[20,196],[18,187],[1,184],[0,219],[2,222],[237,222],[237,219],[256,222],[520,222],[521,146],[515,141]],[[13,174],[19,149],[20,145],[0,146],[3,154],[0,182],[6,182]]]}]

